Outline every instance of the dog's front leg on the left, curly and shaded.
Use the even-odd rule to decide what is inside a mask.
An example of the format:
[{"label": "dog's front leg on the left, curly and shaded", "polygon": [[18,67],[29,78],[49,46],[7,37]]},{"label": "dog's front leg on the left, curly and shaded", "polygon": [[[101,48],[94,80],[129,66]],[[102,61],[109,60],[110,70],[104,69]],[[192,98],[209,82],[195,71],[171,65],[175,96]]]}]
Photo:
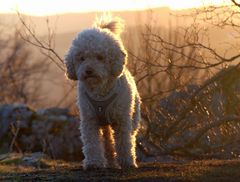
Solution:
[{"label": "dog's front leg on the left, curly and shaded", "polygon": [[81,140],[83,143],[84,169],[105,167],[103,144],[100,128],[95,119],[83,120],[80,123]]}]

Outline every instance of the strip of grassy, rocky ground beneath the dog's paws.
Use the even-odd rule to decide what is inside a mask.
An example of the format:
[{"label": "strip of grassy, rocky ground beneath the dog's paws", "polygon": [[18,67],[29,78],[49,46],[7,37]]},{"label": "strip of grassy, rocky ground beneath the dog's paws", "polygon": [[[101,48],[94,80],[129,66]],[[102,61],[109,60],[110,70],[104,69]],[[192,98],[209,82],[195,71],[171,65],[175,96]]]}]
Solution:
[{"label": "strip of grassy, rocky ground beneath the dog's paws", "polygon": [[140,163],[138,169],[84,171],[80,163],[39,154],[1,156],[0,181],[238,181],[240,160]]}]

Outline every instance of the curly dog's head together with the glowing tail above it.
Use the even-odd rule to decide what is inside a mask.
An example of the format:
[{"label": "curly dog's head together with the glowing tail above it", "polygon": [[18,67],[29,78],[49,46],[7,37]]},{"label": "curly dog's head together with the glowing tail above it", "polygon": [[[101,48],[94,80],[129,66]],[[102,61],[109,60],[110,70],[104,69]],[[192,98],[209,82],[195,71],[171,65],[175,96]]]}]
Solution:
[{"label": "curly dog's head together with the glowing tail above it", "polygon": [[119,77],[127,60],[121,30],[120,19],[101,19],[80,32],[65,57],[68,78],[98,84]]}]

